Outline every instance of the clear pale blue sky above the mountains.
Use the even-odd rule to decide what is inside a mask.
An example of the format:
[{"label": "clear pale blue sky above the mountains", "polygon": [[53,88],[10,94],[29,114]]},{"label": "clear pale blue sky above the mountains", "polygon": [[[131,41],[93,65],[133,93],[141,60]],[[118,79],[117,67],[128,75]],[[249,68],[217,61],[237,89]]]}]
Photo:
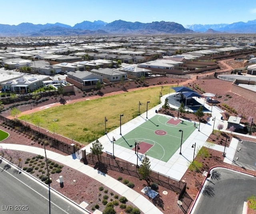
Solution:
[{"label": "clear pale blue sky above the mountains", "polygon": [[1,0],[0,24],[83,21],[220,24],[256,20],[255,0]]}]

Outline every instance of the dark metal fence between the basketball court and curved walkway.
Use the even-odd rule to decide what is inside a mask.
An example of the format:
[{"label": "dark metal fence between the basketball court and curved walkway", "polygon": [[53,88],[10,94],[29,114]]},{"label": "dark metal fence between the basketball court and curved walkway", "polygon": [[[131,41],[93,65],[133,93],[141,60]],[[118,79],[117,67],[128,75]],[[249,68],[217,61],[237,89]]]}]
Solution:
[{"label": "dark metal fence between the basketball court and curved walkway", "polygon": [[[100,163],[98,162],[98,158],[100,159]],[[107,173],[108,170],[114,170],[141,179],[141,175],[138,173],[138,168],[136,167],[136,164],[133,163],[120,161],[112,157],[98,157],[97,155],[92,155],[92,153],[86,153],[86,160],[84,160],[84,162],[90,165],[94,165],[95,167],[99,166],[100,164],[104,165],[100,167],[101,169],[103,169],[104,173]],[[167,177],[155,171],[151,171],[149,181],[165,187],[169,190],[172,190],[177,194],[180,194],[181,190],[185,186],[185,183],[181,181],[176,181],[174,179],[171,179],[169,176]]]}]

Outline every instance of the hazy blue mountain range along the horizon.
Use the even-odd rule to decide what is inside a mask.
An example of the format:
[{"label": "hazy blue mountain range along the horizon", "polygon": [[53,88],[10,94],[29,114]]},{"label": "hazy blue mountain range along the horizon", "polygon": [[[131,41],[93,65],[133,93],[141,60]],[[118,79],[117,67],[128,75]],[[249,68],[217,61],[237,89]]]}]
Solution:
[{"label": "hazy blue mountain range along the horizon", "polygon": [[116,20],[111,23],[103,21],[84,21],[73,27],[62,24],[19,25],[0,24],[0,36],[76,36],[76,35],[163,35],[191,33],[256,33],[256,20],[236,22],[233,24],[192,24],[182,26],[176,22],[126,22]]}]

